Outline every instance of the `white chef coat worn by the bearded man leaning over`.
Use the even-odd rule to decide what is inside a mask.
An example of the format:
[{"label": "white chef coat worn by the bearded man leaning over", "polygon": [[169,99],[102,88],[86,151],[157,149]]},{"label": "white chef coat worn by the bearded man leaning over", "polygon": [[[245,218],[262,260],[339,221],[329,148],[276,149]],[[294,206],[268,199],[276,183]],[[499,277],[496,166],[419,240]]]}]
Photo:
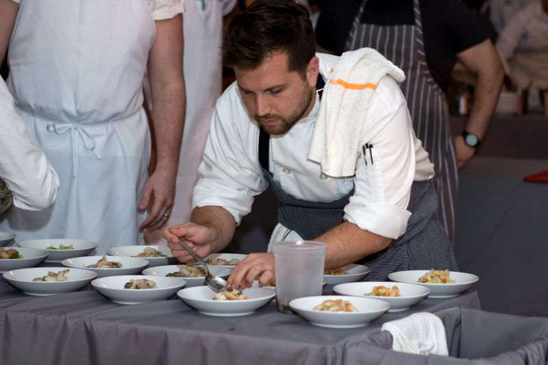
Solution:
[{"label": "white chef coat worn by the bearded man leaning over", "polygon": [[[337,58],[318,56],[321,74],[329,75]],[[366,151],[367,164],[362,152],[356,156],[356,175],[351,178],[327,177],[319,164],[307,160],[318,112],[316,98],[306,118],[288,133],[271,136],[269,166],[273,178],[285,192],[308,201],[333,201],[355,186],[345,207],[345,221],[381,236],[398,238],[405,232],[411,214],[406,208],[412,182],[434,176],[434,165],[414,135],[399,86],[390,77],[377,85],[364,116],[361,142],[374,147]],[[258,162],[258,138],[258,124],[247,114],[234,83],[216,104],[193,207],[224,207],[240,223],[242,216],[251,211],[253,197],[267,188]]]}]

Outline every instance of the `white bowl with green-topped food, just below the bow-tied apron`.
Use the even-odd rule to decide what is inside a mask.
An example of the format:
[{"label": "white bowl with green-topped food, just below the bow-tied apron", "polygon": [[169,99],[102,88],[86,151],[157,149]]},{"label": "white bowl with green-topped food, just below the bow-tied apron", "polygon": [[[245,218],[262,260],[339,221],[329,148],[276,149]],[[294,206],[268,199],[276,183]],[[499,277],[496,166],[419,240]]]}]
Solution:
[{"label": "white bowl with green-topped food, just below the bow-tied apron", "polygon": [[[60,244],[65,246],[73,245],[74,249],[72,250],[48,250],[46,247],[53,246],[59,247]],[[62,262],[64,259],[69,259],[71,257],[84,256],[95,250],[99,244],[93,241],[86,240],[69,240],[55,238],[51,240],[29,240],[19,242],[18,247],[30,247],[32,249],[42,249],[49,252],[48,257],[45,262]]]}]

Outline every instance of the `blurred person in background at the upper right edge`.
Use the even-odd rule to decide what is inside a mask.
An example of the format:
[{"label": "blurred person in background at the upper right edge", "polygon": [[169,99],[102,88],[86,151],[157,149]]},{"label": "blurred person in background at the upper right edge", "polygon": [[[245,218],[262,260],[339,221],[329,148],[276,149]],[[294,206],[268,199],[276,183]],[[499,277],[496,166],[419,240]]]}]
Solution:
[{"label": "blurred person in background at the upper right edge", "polygon": [[540,109],[538,92],[548,89],[548,0],[537,0],[510,18],[496,47],[510,84],[529,90],[528,108]]}]

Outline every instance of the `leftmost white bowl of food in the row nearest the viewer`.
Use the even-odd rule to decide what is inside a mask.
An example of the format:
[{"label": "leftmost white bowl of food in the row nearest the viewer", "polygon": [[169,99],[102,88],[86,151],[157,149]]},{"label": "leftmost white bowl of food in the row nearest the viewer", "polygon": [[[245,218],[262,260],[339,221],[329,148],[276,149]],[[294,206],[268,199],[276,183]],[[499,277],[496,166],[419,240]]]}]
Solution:
[{"label": "leftmost white bowl of food in the row nearest the viewer", "polygon": [[29,295],[53,295],[74,292],[90,284],[95,279],[95,273],[82,268],[71,268],[66,273],[67,281],[32,281],[35,277],[44,277],[49,271],[57,273],[66,270],[64,267],[20,268],[7,271],[3,277],[18,290]]}]

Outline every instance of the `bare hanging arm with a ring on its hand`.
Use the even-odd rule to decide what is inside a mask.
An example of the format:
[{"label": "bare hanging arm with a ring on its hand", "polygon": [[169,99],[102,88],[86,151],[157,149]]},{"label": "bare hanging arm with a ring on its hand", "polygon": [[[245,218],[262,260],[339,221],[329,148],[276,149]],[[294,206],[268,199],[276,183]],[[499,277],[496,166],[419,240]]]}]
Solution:
[{"label": "bare hanging arm with a ring on its hand", "polygon": [[140,210],[148,210],[139,229],[149,230],[162,227],[173,207],[185,114],[182,16],[155,21],[155,25],[148,71],[158,163],[139,203]]}]

